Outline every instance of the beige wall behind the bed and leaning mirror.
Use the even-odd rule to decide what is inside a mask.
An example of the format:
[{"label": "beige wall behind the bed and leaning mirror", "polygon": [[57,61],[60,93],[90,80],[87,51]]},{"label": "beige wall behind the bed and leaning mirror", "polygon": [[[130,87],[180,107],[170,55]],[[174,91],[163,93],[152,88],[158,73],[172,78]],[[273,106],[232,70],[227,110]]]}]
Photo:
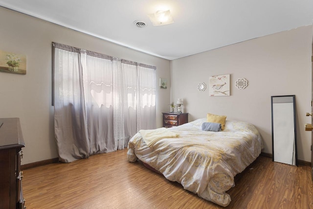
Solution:
[{"label": "beige wall behind the bed and leaning mirror", "polygon": [[[231,34],[229,34],[231,35]],[[171,61],[171,99],[184,98],[189,121],[206,113],[226,115],[230,120],[254,124],[265,142],[263,152],[272,153],[270,96],[295,94],[298,159],[311,162],[311,133],[304,124],[311,118],[312,25]],[[210,97],[209,76],[230,74],[231,95]],[[238,90],[235,81],[246,78]]]}]

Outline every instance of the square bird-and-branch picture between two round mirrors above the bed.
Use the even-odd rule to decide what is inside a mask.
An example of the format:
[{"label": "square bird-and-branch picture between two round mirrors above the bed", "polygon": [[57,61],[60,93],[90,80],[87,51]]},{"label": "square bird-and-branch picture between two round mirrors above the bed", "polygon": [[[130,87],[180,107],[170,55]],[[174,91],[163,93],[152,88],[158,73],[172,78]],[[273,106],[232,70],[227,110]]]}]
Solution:
[{"label": "square bird-and-branch picture between two round mirrors above the bed", "polygon": [[209,92],[210,96],[229,96],[230,74],[210,76]]}]

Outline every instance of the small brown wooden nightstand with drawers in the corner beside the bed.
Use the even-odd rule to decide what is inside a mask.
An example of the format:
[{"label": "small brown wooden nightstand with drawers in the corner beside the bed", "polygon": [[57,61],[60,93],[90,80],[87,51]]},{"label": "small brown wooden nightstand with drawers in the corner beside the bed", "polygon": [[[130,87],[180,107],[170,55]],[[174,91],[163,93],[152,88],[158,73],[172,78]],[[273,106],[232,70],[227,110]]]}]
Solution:
[{"label": "small brown wooden nightstand with drawers in the corner beside the bed", "polygon": [[170,128],[188,122],[188,113],[162,113],[163,127]]}]

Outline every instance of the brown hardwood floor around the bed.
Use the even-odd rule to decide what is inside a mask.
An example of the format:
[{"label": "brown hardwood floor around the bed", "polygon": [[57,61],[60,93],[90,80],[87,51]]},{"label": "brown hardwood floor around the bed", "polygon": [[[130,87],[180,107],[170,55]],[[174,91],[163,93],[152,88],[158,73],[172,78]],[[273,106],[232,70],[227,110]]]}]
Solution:
[{"label": "brown hardwood floor around the bed", "polygon": [[[27,209],[220,209],[146,168],[125,150],[23,171]],[[309,166],[260,156],[227,191],[230,209],[313,209]]]}]

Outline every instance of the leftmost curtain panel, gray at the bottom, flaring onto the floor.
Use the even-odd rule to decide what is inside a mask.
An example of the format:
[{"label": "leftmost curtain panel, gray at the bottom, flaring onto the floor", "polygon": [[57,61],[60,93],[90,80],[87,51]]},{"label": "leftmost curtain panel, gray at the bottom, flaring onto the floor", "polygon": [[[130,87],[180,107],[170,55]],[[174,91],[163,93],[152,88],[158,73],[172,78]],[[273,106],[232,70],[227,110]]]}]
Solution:
[{"label": "leftmost curtain panel, gray at the bottom, flaring onto the floor", "polygon": [[82,65],[77,48],[54,44],[54,128],[59,158],[89,157]]}]

